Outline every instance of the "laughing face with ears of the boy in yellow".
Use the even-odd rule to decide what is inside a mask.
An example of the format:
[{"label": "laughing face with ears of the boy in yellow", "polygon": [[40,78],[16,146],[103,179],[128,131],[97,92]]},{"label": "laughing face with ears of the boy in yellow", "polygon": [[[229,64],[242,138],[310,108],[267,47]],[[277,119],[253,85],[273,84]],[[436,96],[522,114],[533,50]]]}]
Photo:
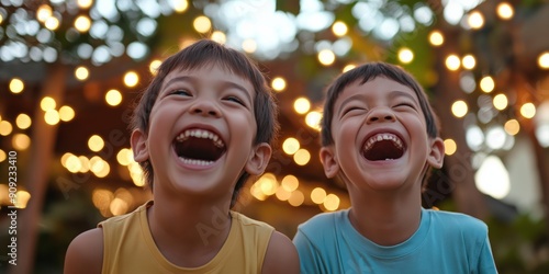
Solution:
[{"label": "laughing face with ears of the boy in yellow", "polygon": [[155,193],[214,193],[231,199],[243,171],[260,174],[270,147],[254,145],[254,98],[248,80],[215,62],[170,72],[148,132],[132,135],[135,160],[154,167]]}]

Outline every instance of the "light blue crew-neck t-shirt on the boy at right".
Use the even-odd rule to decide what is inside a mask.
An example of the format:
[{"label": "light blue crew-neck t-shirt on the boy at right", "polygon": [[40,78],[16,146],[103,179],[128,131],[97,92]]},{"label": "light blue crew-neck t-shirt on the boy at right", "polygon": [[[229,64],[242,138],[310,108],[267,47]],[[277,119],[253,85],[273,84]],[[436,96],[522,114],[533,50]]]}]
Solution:
[{"label": "light blue crew-neck t-shirt on the boy at right", "polygon": [[348,215],[324,213],[299,226],[301,273],[497,273],[488,226],[468,215],[422,208],[419,228],[390,247],[360,235]]}]

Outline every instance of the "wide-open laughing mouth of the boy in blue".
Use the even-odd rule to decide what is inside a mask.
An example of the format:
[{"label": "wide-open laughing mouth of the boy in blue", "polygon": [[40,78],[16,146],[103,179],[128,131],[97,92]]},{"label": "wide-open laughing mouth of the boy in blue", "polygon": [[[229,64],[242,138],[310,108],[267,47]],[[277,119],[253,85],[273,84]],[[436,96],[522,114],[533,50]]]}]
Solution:
[{"label": "wide-open laughing mouth of the boy in blue", "polygon": [[399,159],[404,155],[404,142],[394,134],[377,134],[362,147],[362,156],[370,161]]}]

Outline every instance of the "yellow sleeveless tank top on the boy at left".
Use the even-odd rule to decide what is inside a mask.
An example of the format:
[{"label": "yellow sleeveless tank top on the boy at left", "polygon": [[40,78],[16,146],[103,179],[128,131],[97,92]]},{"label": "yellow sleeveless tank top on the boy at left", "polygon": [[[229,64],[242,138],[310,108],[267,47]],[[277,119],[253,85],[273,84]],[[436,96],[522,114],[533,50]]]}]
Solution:
[{"label": "yellow sleeveless tank top on the boy at left", "polygon": [[220,252],[206,264],[187,269],[170,263],[153,240],[148,222],[148,202],[135,212],[109,218],[103,229],[102,273],[261,273],[271,226],[231,212],[228,237]]}]

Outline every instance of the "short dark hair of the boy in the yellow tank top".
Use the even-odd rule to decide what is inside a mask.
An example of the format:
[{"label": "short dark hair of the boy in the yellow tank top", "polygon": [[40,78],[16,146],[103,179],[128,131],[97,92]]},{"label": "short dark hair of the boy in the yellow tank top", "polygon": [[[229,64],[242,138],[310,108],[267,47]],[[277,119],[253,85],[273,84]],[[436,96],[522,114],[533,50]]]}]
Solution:
[{"label": "short dark hair of the boy in the yellow tank top", "polygon": [[[156,76],[153,78],[149,85],[143,91],[142,96],[134,109],[130,125],[131,129],[141,129],[148,133],[150,111],[153,110],[164,80],[168,73],[178,69],[198,69],[205,65],[223,66],[224,69],[227,69],[232,73],[251,82],[255,90],[254,116],[257,125],[254,145],[261,142],[271,145],[279,129],[277,121],[278,109],[265,76],[258,65],[256,65],[245,54],[210,39],[200,39],[163,61],[157,69]],[[150,187],[150,190],[154,190],[153,165],[149,160],[139,162],[139,165],[143,169],[146,184]],[[233,192],[231,207],[235,205],[239,191],[248,178],[249,173],[245,171],[238,178]]]}]

